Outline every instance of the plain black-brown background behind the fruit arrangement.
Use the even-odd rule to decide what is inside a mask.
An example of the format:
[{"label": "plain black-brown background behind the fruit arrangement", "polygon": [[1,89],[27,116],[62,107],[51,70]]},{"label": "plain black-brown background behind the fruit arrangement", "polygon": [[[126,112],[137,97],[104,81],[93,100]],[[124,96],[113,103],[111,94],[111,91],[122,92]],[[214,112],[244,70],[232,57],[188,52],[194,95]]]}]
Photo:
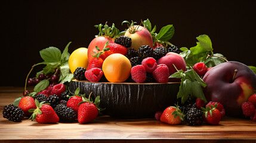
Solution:
[{"label": "plain black-brown background behind the fruit arrangement", "polygon": [[[55,46],[63,51],[72,41],[70,54],[88,47],[97,35],[95,24],[146,20],[157,26],[174,24],[171,43],[188,48],[196,37],[211,38],[215,53],[247,65],[255,63],[255,1],[4,1],[1,12],[0,86],[24,86],[30,67],[42,61],[39,51]],[[30,77],[35,76],[33,70]]]}]

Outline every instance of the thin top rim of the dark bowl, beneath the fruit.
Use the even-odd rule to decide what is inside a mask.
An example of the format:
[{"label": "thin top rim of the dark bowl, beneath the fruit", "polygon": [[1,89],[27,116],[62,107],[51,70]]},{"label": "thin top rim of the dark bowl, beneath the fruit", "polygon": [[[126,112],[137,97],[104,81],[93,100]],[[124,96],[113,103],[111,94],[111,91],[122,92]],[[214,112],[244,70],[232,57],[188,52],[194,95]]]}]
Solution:
[{"label": "thin top rim of the dark bowl, beneath the fruit", "polygon": [[164,84],[175,84],[180,82],[165,82],[165,83],[158,83],[158,82],[150,82],[150,83],[136,83],[136,82],[90,82],[88,80],[76,80],[72,79],[73,82],[87,82],[87,83],[104,83],[104,84],[118,84],[118,85],[164,85]]}]

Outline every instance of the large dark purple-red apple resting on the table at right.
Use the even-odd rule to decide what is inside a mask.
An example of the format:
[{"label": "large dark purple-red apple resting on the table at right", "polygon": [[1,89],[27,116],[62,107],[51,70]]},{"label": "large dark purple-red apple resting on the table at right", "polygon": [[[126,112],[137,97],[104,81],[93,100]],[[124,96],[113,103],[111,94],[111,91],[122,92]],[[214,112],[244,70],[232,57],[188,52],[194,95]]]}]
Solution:
[{"label": "large dark purple-red apple resting on the table at right", "polygon": [[254,94],[256,75],[245,64],[229,61],[205,73],[203,92],[208,101],[220,102],[228,116],[242,116],[241,105]]}]

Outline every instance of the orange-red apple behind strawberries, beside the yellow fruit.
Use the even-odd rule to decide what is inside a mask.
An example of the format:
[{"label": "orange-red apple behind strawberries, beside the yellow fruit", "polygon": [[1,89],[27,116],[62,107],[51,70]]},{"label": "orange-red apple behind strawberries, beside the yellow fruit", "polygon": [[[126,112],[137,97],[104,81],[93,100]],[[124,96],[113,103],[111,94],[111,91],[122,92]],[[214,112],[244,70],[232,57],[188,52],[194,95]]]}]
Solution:
[{"label": "orange-red apple behind strawberries, beside the yellow fruit", "polygon": [[92,55],[94,54],[94,52],[98,52],[98,50],[96,49],[96,46],[98,46],[98,48],[100,48],[100,51],[103,50],[104,45],[106,44],[106,42],[109,41],[109,43],[113,43],[115,42],[114,39],[109,38],[109,37],[105,37],[105,36],[98,36],[97,38],[94,38],[90,45],[88,46],[88,52],[87,52],[87,56],[88,56],[88,62],[93,58]]}]

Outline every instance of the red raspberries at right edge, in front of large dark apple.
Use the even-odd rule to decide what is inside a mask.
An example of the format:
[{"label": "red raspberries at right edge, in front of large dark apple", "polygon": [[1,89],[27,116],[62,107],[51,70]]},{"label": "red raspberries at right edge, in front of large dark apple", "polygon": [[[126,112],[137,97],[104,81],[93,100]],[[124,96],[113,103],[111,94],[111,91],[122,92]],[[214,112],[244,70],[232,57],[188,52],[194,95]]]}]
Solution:
[{"label": "red raspberries at right edge, in front of large dark apple", "polygon": [[242,111],[246,118],[256,121],[256,94],[251,95],[247,102],[243,102]]}]

